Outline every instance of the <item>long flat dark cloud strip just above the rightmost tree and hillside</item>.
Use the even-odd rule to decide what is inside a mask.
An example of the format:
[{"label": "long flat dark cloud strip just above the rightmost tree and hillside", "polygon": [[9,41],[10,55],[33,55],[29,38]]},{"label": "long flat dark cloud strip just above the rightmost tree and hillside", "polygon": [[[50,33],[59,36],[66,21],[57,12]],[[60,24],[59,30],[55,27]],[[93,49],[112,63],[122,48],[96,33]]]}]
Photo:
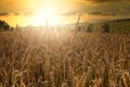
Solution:
[{"label": "long flat dark cloud strip just above the rightmost tree and hillside", "polygon": [[116,13],[113,12],[90,12],[89,15],[102,15],[102,16],[115,16]]}]

